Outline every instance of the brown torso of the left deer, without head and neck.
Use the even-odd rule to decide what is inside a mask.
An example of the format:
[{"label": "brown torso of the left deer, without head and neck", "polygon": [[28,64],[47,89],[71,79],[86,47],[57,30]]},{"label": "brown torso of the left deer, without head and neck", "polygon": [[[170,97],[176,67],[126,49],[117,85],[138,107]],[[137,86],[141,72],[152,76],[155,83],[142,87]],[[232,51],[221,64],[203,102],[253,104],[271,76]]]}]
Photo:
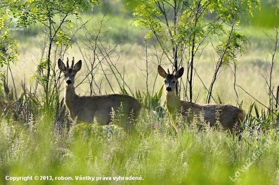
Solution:
[{"label": "brown torso of the left deer, without head and neck", "polygon": [[135,98],[124,94],[109,94],[101,96],[77,96],[70,110],[71,118],[78,118],[80,122],[91,123],[96,119],[97,123],[107,125],[112,122],[113,110],[116,114],[123,115],[123,124],[129,117],[136,119],[143,107]]}]

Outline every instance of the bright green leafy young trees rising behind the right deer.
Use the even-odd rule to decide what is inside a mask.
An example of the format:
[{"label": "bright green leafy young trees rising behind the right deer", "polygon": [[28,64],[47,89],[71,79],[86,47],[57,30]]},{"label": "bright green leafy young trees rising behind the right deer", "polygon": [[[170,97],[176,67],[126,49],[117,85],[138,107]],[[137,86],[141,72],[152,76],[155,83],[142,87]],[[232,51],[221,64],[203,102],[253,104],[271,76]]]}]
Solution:
[{"label": "bright green leafy young trees rising behind the right deer", "polygon": [[185,86],[184,91],[189,91],[190,101],[193,98],[193,63],[200,57],[202,46],[207,45],[208,39],[210,40],[218,59],[216,72],[208,89],[209,103],[220,67],[230,62],[235,63],[236,55],[245,53],[248,40],[235,27],[241,23],[242,15],[252,14],[254,5],[257,7],[259,0],[140,0],[133,13],[135,17],[139,17],[134,25],[149,28],[146,39],[156,40],[156,46],[159,46],[176,70],[187,63],[189,85]]}]

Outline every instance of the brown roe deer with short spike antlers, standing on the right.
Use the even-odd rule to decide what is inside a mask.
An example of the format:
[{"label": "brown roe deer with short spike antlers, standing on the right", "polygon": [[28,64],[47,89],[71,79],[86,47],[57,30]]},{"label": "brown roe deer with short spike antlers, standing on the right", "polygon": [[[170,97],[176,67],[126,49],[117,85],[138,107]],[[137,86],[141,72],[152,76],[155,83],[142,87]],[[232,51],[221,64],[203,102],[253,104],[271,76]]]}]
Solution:
[{"label": "brown roe deer with short spike antlers, standing on the right", "polygon": [[[245,112],[233,105],[229,104],[205,104],[199,105],[196,103],[182,101],[176,96],[176,83],[178,79],[183,75],[184,68],[180,68],[178,71],[173,71],[171,74],[169,70],[166,71],[158,65],[158,73],[164,78],[164,87],[166,94],[166,107],[170,116],[172,126],[178,132],[178,126],[175,123],[176,114],[180,113],[183,119],[186,119],[188,123],[193,121],[194,115],[204,116],[206,123],[210,123],[211,126],[215,126],[216,121],[220,121],[224,130],[239,132],[240,124],[245,118]],[[217,113],[218,112],[218,113]],[[219,118],[216,115],[219,114]]]}]

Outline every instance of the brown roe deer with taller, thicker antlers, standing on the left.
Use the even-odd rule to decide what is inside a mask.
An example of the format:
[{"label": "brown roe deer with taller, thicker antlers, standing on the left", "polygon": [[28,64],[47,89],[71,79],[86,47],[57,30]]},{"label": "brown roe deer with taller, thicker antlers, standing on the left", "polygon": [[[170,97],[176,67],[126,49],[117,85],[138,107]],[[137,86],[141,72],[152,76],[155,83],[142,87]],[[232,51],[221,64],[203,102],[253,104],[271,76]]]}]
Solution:
[{"label": "brown roe deer with taller, thicker antlers, standing on the left", "polygon": [[[142,112],[143,106],[137,99],[125,94],[109,94],[101,96],[79,96],[75,92],[75,76],[81,69],[82,61],[79,60],[74,66],[74,57],[71,67],[58,60],[58,67],[64,73],[65,94],[64,101],[72,120],[91,123],[96,119],[101,125],[112,122],[112,108],[117,111],[122,106],[120,126],[127,131],[133,131],[131,124]],[[119,116],[119,115],[118,115]]]}]

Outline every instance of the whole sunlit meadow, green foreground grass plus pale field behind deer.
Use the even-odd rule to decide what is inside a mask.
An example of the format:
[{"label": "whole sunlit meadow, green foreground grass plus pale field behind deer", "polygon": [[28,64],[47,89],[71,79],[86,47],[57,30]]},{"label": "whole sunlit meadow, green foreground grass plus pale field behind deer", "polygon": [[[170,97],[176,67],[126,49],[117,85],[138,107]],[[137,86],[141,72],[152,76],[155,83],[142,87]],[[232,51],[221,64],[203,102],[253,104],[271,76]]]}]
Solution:
[{"label": "whole sunlit meadow, green foreground grass plus pale field behind deer", "polygon": [[[88,29],[92,34],[93,28],[100,26],[101,17],[94,15],[91,20]],[[246,25],[241,31],[249,37],[250,44],[245,54],[238,55],[235,75],[236,84],[242,89],[234,86],[233,64],[222,68],[214,86],[216,102],[212,100],[212,103],[221,101],[241,106],[247,114],[241,139],[238,139],[234,133],[218,131],[204,123],[199,123],[204,127],[198,130],[197,120],[175,133],[164,105],[164,92],[160,91],[163,79],[157,74],[156,58],[149,55],[147,61],[143,60],[146,52],[142,41],[146,30],[131,25],[132,17],[125,21],[121,16],[108,17],[103,29],[109,31],[104,31],[101,39],[109,39],[101,41],[107,44],[106,49],[113,48],[113,54],[109,59],[96,55],[103,65],[94,68],[93,85],[88,69],[94,55],[92,48],[83,47],[87,41],[82,33],[64,57],[74,56],[76,61],[84,62],[77,76],[77,94],[124,92],[140,99],[146,110],[136,120],[138,135],[127,134],[117,122],[100,126],[69,120],[63,106],[61,79],[60,93],[54,95],[59,110],[44,113],[43,103],[29,98],[31,93],[25,93],[25,99],[22,98],[22,102],[26,102],[22,108],[2,110],[0,184],[279,184],[278,112],[274,109],[272,114],[267,108],[272,97],[268,95],[265,80],[269,80],[270,75],[273,41],[269,36],[275,34],[274,29]],[[24,94],[21,82],[26,83],[26,89],[38,86],[36,80],[29,79],[41,57],[43,32],[44,27],[36,25],[12,33],[19,41],[20,58],[11,65],[13,79],[11,75],[7,79],[10,89],[14,87],[14,80],[18,97]],[[56,75],[59,74],[56,65],[59,57],[53,55],[52,58]],[[213,58],[213,49],[206,46],[195,61],[198,66],[194,77],[196,103],[205,103],[206,88],[214,73]],[[21,62],[25,64],[20,65]],[[167,60],[163,60],[162,66],[171,68]],[[6,73],[5,69],[2,68],[2,72]],[[279,66],[275,63],[274,94],[279,84],[278,73]],[[15,102],[11,96],[15,95],[15,89],[13,93],[4,94],[3,102],[7,103],[8,98]],[[38,88],[32,95],[40,96],[41,92]],[[187,100],[187,97],[181,93],[181,99]]]}]

